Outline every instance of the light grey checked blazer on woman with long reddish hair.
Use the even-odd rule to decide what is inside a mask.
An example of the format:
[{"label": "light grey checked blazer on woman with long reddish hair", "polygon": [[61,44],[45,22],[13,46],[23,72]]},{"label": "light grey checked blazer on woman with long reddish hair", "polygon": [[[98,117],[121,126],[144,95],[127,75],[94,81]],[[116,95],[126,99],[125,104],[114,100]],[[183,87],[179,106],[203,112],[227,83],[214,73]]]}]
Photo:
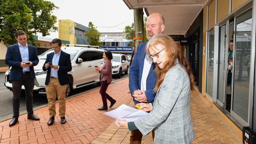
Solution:
[{"label": "light grey checked blazer on woman with long reddish hair", "polygon": [[186,70],[176,61],[165,75],[152,111],[134,122],[145,136],[155,130],[155,144],[189,144],[195,139],[189,111],[190,82]]}]

